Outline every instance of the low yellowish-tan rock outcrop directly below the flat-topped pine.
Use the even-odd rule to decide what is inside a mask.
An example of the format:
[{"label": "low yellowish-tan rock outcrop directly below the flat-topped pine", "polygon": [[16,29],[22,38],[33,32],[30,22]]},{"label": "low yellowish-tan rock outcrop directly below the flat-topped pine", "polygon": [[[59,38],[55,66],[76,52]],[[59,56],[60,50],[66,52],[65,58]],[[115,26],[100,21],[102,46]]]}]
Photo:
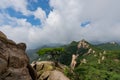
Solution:
[{"label": "low yellowish-tan rock outcrop directly below the flat-topped pine", "polygon": [[31,64],[37,71],[38,80],[70,80],[64,75],[66,66],[51,61],[33,62]]}]

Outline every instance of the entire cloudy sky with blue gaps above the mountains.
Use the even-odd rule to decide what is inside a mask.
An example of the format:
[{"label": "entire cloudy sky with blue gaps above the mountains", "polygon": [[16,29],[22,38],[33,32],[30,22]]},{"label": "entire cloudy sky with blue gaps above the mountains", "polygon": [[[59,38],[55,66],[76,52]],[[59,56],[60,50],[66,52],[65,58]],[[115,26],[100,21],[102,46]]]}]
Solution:
[{"label": "entire cloudy sky with blue gaps above the mountains", "polygon": [[81,39],[120,42],[120,0],[1,0],[0,31],[29,49]]}]

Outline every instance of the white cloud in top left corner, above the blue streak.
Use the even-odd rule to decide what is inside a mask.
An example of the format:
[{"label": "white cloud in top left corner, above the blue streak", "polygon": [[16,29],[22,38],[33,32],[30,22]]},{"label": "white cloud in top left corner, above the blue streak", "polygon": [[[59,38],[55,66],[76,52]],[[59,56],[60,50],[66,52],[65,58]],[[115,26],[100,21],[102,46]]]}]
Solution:
[{"label": "white cloud in top left corner, above the blue streak", "polygon": [[1,0],[0,9],[13,8],[16,11],[22,12],[24,15],[29,15],[31,12],[27,10],[27,0]]}]

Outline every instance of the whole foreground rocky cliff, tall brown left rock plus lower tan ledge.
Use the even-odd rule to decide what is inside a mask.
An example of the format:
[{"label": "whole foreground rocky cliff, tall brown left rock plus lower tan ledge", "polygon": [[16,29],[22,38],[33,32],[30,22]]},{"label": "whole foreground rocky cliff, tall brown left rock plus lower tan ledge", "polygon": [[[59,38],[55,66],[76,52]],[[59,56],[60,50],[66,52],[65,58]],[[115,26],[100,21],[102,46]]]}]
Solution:
[{"label": "whole foreground rocky cliff, tall brown left rock plus lower tan ledge", "polygon": [[66,67],[50,61],[29,64],[24,43],[16,44],[0,31],[0,80],[70,80]]}]

